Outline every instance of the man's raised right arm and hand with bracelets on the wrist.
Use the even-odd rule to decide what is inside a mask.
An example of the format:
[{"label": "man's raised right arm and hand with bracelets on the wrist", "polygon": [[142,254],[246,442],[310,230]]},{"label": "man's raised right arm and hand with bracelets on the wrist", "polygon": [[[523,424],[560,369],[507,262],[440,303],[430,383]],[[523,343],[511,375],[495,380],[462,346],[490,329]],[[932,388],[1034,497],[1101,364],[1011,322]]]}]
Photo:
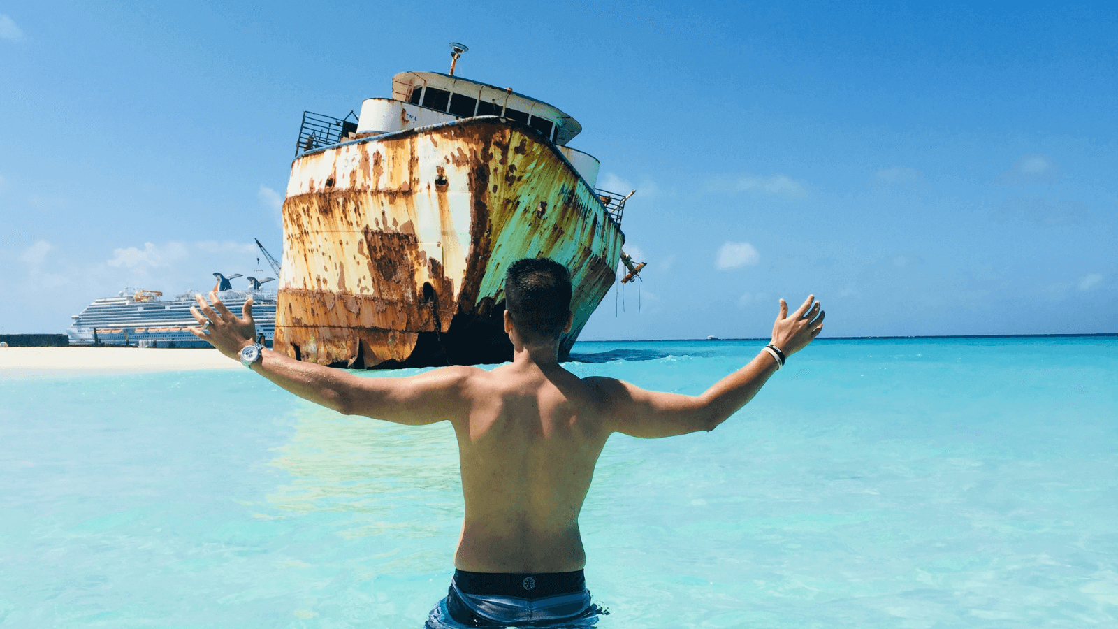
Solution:
[{"label": "man's raised right arm and hand with bracelets on the wrist", "polygon": [[[780,300],[780,312],[773,325],[773,345],[785,356],[806,347],[823,330],[825,313],[814,300],[815,295],[808,295],[790,316],[788,304]],[[645,391],[613,378],[590,382],[603,392],[614,431],[656,438],[713,430],[752,400],[776,369],[776,358],[761,350],[748,365],[697,396]]]}]

